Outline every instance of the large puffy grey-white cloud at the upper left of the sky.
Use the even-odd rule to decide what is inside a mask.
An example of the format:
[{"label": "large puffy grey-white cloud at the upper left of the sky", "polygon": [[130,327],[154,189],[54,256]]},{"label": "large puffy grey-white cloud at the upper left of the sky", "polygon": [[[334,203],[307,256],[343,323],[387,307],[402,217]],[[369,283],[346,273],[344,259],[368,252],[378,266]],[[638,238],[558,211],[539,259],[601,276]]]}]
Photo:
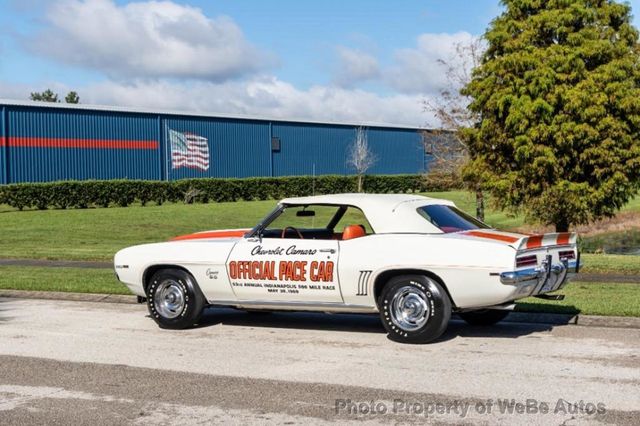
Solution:
[{"label": "large puffy grey-white cloud at the upper left of the sky", "polygon": [[46,22],[30,40],[32,50],[112,78],[224,81],[272,63],[231,18],[209,18],[171,1],[60,0]]}]

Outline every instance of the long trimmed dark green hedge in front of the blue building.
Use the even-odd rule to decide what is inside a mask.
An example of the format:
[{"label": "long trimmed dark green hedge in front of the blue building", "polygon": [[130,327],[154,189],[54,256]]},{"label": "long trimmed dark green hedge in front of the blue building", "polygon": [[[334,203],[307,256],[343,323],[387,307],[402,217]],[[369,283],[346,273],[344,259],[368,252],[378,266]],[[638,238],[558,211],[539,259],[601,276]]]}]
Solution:
[{"label": "long trimmed dark green hedge in front of the blue building", "polygon": [[[452,183],[453,182],[453,183]],[[423,175],[364,177],[371,193],[445,191],[457,188],[450,178]],[[0,186],[0,204],[24,208],[126,207],[134,202],[209,203],[266,200],[315,194],[355,192],[355,176],[295,176],[246,179],[184,179],[171,182],[144,180],[62,181]]]}]

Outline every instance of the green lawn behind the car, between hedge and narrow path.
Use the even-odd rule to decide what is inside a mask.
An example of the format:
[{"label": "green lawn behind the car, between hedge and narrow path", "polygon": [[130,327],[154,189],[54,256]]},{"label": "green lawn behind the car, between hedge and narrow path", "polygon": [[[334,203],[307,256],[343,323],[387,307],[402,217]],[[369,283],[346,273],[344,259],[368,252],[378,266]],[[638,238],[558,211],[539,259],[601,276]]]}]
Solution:
[{"label": "green lawn behind the car, between hedge and narrow path", "polygon": [[[435,192],[475,212],[475,198],[464,191]],[[0,207],[0,257],[109,261],[123,247],[209,229],[250,228],[276,202],[243,201],[212,204],[166,204],[127,208],[16,211]],[[636,198],[625,210],[640,210]],[[487,207],[487,222],[498,229],[523,224]],[[640,256],[587,255],[584,272],[640,274]]]}]

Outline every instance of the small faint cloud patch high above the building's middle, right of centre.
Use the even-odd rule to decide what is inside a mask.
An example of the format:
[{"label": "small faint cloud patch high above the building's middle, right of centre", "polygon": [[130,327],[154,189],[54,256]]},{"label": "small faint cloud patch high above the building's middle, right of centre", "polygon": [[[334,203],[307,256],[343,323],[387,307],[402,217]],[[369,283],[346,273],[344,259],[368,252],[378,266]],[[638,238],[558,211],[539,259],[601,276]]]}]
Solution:
[{"label": "small faint cloud patch high above the building's middle, right of centre", "polygon": [[341,87],[352,87],[356,83],[380,76],[378,60],[369,53],[344,46],[337,48],[338,65],[335,82]]}]

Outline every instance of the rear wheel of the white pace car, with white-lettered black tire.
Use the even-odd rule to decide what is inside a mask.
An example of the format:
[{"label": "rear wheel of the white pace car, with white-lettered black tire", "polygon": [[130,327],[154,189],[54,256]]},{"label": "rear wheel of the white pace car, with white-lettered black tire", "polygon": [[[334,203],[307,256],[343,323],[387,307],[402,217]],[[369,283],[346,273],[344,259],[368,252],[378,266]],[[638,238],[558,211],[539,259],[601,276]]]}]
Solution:
[{"label": "rear wheel of the white pace car, with white-lettered black tire", "polygon": [[[422,275],[393,277],[382,289],[380,318],[391,340],[429,343],[444,333],[451,318],[451,300],[442,285]],[[398,308],[413,309],[416,320],[399,315]]]}]

